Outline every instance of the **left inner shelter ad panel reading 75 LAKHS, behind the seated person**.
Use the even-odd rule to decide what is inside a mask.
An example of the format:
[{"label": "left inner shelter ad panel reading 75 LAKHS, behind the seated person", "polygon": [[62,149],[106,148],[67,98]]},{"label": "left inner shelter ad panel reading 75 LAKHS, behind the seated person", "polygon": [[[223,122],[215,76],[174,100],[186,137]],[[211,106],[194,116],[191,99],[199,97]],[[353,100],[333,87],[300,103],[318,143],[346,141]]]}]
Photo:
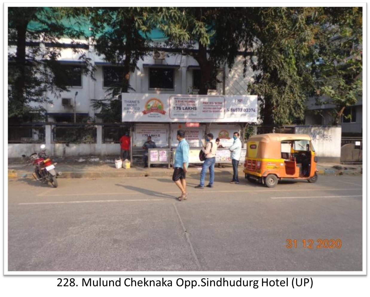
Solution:
[{"label": "left inner shelter ad panel reading 75 LAKHS, behind the seated person", "polygon": [[134,131],[134,147],[142,147],[144,142],[152,137],[157,147],[168,146],[168,125],[166,124],[137,124]]}]

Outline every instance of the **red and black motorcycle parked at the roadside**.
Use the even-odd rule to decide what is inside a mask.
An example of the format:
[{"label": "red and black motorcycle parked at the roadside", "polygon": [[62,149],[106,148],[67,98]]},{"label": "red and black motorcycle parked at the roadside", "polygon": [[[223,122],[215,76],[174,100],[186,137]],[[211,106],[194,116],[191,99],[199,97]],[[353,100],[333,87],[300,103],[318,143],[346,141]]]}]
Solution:
[{"label": "red and black motorcycle parked at the roadside", "polygon": [[[42,144],[40,148],[40,153],[33,153],[30,155],[29,159],[31,163],[27,164],[26,166],[35,166],[34,172],[32,173],[32,176],[35,180],[46,184],[50,182],[51,185],[56,188],[58,186],[57,176],[61,175],[61,172],[57,173],[55,171],[55,165],[57,165],[57,163],[53,163],[53,161],[46,155],[46,145]],[[26,157],[26,155],[22,156],[23,158]]]}]

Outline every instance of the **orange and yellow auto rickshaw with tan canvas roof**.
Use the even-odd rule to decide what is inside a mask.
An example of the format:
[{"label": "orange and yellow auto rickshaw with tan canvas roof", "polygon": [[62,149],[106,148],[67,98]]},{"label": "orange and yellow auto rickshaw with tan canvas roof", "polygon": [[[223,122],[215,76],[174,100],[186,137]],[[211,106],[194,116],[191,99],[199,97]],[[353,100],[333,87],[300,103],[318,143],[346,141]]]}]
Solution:
[{"label": "orange and yellow auto rickshaw with tan canvas roof", "polygon": [[317,181],[317,156],[307,134],[259,134],[247,141],[245,178],[275,187],[278,180]]}]

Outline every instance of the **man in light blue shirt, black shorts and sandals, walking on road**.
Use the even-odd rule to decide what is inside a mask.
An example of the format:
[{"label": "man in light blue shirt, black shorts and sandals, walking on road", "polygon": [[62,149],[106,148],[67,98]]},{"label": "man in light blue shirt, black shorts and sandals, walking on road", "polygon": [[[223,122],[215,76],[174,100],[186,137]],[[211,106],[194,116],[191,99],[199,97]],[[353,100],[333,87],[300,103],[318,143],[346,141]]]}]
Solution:
[{"label": "man in light blue shirt, black shorts and sandals, walking on road", "polygon": [[177,145],[174,158],[174,174],[172,175],[172,180],[181,190],[181,196],[178,197],[178,200],[181,201],[188,198],[185,177],[189,165],[189,144],[185,140],[184,130],[177,130],[176,138],[179,144]]}]

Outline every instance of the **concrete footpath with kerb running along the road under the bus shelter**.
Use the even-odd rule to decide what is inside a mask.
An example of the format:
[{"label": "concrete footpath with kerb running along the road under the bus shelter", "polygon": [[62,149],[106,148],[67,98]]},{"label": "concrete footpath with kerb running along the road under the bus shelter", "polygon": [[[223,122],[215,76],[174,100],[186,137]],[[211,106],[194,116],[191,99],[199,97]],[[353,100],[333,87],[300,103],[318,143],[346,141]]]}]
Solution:
[{"label": "concrete footpath with kerb running along the road under the bus shelter", "polygon": [[[217,165],[217,164],[216,164]],[[164,165],[154,165],[153,168],[132,166],[130,169],[116,169],[114,163],[105,162],[58,162],[57,172],[62,172],[59,178],[98,178],[98,177],[142,177],[142,176],[172,176],[173,169]],[[215,167],[215,174],[232,175],[231,164],[224,164],[223,168]],[[361,165],[342,165],[335,163],[317,163],[320,175],[359,175],[362,174]],[[24,167],[24,163],[10,162],[8,164],[8,177],[32,177],[33,166]],[[190,165],[188,175],[199,175],[200,165]],[[243,168],[239,166],[239,176],[244,177]]]}]

